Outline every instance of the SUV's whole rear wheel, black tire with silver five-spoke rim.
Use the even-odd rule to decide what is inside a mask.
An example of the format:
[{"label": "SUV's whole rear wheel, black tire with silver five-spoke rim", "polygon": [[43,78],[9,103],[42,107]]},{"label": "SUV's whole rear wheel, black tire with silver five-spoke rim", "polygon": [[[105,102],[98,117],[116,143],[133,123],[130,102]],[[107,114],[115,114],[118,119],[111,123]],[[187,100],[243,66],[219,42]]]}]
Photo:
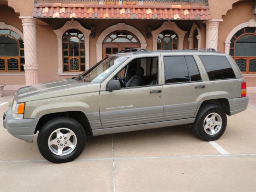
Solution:
[{"label": "SUV's whole rear wheel, black tire with silver five-spoke rim", "polygon": [[201,106],[192,124],[194,134],[204,141],[214,141],[220,138],[227,126],[227,116],[224,110],[215,104]]}]

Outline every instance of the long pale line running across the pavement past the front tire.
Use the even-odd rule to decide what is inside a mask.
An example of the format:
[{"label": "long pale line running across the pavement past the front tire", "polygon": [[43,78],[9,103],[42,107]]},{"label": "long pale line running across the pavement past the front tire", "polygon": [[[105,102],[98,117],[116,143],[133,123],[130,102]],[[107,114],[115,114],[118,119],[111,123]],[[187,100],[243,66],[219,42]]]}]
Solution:
[{"label": "long pale line running across the pavement past the front tire", "polygon": [[[150,157],[114,157],[114,158],[81,158],[74,161],[95,161],[95,160],[143,160],[143,159],[182,159],[196,157],[236,157],[236,156],[256,156],[256,154],[216,154],[216,155],[182,155],[182,156],[150,156]],[[15,162],[48,162],[47,160],[2,160],[0,163]]]}]

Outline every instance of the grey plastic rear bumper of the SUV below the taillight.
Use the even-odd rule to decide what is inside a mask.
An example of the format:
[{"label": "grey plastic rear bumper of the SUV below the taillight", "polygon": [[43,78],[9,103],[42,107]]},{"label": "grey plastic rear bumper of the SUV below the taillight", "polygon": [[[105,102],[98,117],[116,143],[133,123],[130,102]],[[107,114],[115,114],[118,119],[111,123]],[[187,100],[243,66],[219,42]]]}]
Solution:
[{"label": "grey plastic rear bumper of the SUV below the taillight", "polygon": [[228,99],[229,106],[230,106],[230,115],[234,115],[246,110],[248,106],[248,101],[249,101],[249,97]]}]

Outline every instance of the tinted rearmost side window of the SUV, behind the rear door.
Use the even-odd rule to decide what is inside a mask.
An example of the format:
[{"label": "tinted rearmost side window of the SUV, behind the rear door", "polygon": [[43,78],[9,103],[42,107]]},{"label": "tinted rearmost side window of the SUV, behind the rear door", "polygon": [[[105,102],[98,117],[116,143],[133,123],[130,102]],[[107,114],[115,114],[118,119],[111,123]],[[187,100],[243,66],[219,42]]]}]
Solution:
[{"label": "tinted rearmost side window of the SUV, behind the rear door", "polygon": [[236,78],[226,56],[199,56],[210,80]]}]

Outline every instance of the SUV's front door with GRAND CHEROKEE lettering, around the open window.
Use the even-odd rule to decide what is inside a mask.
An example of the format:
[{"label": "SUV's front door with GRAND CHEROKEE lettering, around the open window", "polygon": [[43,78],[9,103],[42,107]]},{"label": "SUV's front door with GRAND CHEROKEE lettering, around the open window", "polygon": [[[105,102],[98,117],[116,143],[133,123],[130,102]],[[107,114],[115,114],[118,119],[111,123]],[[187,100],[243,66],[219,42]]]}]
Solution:
[{"label": "SUV's front door with GRAND CHEROKEE lettering, around the open window", "polygon": [[[159,65],[160,54],[152,54],[150,56],[157,58],[157,84],[126,87],[111,92],[106,91],[106,85],[109,80],[120,73],[125,66],[120,66],[102,83],[99,96],[102,128],[164,121],[162,70]],[[130,58],[130,62],[134,59]],[[141,67],[143,67],[142,64]]]}]

